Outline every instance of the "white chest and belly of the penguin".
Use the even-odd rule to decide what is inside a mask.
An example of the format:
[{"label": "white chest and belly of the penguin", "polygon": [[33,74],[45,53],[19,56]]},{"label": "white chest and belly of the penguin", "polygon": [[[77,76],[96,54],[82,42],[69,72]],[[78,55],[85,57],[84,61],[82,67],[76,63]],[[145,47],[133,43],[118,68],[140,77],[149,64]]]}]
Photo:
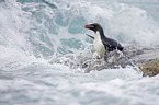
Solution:
[{"label": "white chest and belly of the penguin", "polygon": [[100,33],[96,32],[95,34],[95,38],[94,38],[94,49],[95,51],[98,51],[98,54],[100,56],[103,56],[105,54],[105,47],[101,40],[101,36],[100,36]]}]

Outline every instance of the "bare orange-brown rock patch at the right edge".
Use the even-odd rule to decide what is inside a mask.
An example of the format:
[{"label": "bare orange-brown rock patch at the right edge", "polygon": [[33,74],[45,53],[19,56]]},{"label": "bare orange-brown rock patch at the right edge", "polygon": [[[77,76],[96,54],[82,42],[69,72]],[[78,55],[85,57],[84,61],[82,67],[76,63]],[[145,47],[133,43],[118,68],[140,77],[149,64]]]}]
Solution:
[{"label": "bare orange-brown rock patch at the right edge", "polygon": [[143,71],[144,77],[152,77],[159,73],[159,58],[146,60],[137,66]]}]

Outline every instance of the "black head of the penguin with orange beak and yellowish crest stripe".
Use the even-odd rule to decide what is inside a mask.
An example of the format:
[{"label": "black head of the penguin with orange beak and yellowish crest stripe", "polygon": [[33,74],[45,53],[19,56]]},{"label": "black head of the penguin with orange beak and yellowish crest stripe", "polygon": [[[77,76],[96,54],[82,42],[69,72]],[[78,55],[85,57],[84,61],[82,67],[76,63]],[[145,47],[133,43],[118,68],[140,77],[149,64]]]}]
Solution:
[{"label": "black head of the penguin with orange beak and yellowish crest stripe", "polygon": [[94,33],[96,33],[98,31],[102,30],[102,26],[99,23],[93,23],[93,24],[84,25],[84,28],[92,30],[92,31],[94,31]]}]

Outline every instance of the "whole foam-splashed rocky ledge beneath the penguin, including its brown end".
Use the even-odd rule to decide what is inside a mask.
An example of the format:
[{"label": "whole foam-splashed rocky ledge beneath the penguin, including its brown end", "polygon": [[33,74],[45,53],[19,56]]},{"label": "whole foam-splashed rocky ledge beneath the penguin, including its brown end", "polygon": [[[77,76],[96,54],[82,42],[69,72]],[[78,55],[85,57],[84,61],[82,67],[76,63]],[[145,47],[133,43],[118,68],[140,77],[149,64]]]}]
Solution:
[{"label": "whole foam-splashed rocky ledge beneath the penguin, including its brown end", "polygon": [[71,69],[82,69],[84,72],[92,70],[126,68],[140,69],[144,77],[152,77],[159,73],[159,48],[125,46],[123,52],[112,51],[109,55],[109,62],[98,57],[93,50],[86,50],[78,54],[56,56],[49,63],[61,63]]}]

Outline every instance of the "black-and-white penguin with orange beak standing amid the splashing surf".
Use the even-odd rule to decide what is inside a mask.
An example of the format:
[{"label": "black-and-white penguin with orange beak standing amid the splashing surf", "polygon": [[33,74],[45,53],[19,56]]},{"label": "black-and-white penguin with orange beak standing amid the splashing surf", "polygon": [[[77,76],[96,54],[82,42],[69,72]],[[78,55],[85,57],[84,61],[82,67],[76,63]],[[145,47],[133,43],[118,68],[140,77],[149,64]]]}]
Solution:
[{"label": "black-and-white penguin with orange beak standing amid the splashing surf", "polygon": [[95,33],[94,37],[88,34],[87,35],[93,39],[95,51],[101,57],[104,56],[104,60],[106,62],[107,62],[107,57],[110,51],[113,50],[122,51],[124,49],[124,47],[120,43],[104,35],[103,28],[99,23],[84,25],[84,28],[92,30]]}]

